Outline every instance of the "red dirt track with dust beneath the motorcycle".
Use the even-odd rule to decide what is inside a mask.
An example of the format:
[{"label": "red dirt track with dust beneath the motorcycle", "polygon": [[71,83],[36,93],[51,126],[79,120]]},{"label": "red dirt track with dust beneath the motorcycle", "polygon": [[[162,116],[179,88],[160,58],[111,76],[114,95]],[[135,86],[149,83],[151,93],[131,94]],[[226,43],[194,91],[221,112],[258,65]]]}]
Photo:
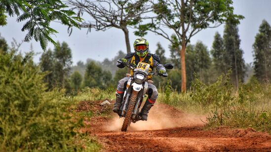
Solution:
[{"label": "red dirt track with dust beneath the motorcycle", "polygon": [[[101,110],[100,102],[84,101],[78,110]],[[204,118],[183,113],[165,104],[155,104],[148,121],[132,123],[127,132],[120,132],[123,119],[117,117],[94,117],[90,122],[86,119],[85,124],[88,125],[81,131],[95,136],[105,152],[271,152],[270,134],[252,128],[203,130]]]}]

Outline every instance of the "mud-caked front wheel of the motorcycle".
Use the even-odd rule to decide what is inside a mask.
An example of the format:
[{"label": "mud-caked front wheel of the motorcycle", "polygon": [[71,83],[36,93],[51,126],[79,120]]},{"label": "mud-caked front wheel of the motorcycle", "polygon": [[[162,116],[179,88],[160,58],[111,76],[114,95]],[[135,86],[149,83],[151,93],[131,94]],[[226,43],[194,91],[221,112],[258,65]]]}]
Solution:
[{"label": "mud-caked front wheel of the motorcycle", "polygon": [[131,123],[133,110],[135,108],[137,94],[138,94],[137,91],[133,91],[133,93],[132,93],[132,95],[130,97],[130,102],[129,102],[129,105],[128,105],[128,109],[126,111],[124,122],[123,122],[122,127],[121,127],[121,131],[127,131],[127,128]]}]

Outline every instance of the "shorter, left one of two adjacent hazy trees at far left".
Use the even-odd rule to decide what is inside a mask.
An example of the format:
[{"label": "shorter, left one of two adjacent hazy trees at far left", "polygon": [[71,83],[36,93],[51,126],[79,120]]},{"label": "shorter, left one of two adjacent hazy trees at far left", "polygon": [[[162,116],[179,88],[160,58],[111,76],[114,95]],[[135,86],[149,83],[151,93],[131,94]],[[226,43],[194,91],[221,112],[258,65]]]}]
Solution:
[{"label": "shorter, left one of two adjacent hazy trees at far left", "polygon": [[44,82],[48,84],[48,89],[52,89],[55,86],[55,78],[54,78],[54,67],[55,67],[55,59],[51,49],[48,49],[46,52],[42,53],[39,58],[39,65],[42,72],[49,72],[44,77]]}]

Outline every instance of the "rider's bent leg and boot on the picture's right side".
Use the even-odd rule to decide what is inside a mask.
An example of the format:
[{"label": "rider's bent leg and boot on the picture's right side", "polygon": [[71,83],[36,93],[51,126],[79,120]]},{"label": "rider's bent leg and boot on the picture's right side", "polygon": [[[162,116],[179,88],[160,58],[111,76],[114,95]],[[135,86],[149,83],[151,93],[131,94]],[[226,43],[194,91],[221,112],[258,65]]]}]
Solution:
[{"label": "rider's bent leg and boot on the picture's right side", "polygon": [[148,83],[148,98],[141,110],[141,120],[143,121],[147,121],[147,118],[148,118],[148,113],[150,111],[150,109],[152,108],[152,106],[154,106],[155,104],[155,100],[157,99],[158,97],[158,91],[155,87],[155,85],[151,84],[151,83]]}]

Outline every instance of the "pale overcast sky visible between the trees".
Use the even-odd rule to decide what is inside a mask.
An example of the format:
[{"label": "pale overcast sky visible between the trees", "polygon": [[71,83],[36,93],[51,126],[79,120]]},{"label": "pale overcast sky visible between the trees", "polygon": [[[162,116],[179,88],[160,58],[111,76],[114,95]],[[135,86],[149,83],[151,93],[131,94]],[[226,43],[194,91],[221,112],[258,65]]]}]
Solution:
[{"label": "pale overcast sky visible between the trees", "polygon": [[[243,58],[246,63],[253,62],[252,56],[252,44],[254,43],[254,37],[258,33],[259,26],[262,20],[267,20],[271,24],[271,0],[233,0],[234,13],[243,15],[245,19],[240,21],[239,35],[241,39],[241,49],[244,51]],[[7,19],[7,25],[0,27],[0,34],[6,39],[8,44],[12,42],[12,38],[18,42],[24,39],[26,32],[22,32],[21,29],[24,23],[17,23],[16,17],[9,17]],[[72,49],[73,62],[86,61],[90,58],[97,61],[103,61],[105,58],[112,59],[116,56],[119,50],[126,52],[126,45],[124,40],[124,33],[119,29],[109,29],[106,31],[91,30],[87,34],[87,29],[73,29],[73,33],[69,36],[67,27],[60,25],[59,23],[52,23],[52,28],[59,33],[56,36],[53,35],[54,40],[60,42],[67,42]],[[211,49],[214,34],[218,31],[223,35],[224,25],[215,29],[206,29],[197,33],[191,39],[191,43],[195,44],[197,40],[201,40],[208,46],[208,50]],[[130,44],[132,46],[133,41],[138,38],[130,29]],[[172,32],[173,33],[173,32]],[[162,47],[166,50],[166,57],[169,57],[168,50],[169,41],[161,36],[150,33],[145,36],[150,43],[150,50],[154,53],[157,42],[162,44]],[[35,62],[39,62],[42,49],[38,42],[32,40],[34,51],[39,53],[34,58]],[[22,52],[30,50],[31,43],[24,42],[20,48]],[[54,48],[52,44],[48,45],[48,48]],[[133,51],[133,50],[132,50]]]}]

